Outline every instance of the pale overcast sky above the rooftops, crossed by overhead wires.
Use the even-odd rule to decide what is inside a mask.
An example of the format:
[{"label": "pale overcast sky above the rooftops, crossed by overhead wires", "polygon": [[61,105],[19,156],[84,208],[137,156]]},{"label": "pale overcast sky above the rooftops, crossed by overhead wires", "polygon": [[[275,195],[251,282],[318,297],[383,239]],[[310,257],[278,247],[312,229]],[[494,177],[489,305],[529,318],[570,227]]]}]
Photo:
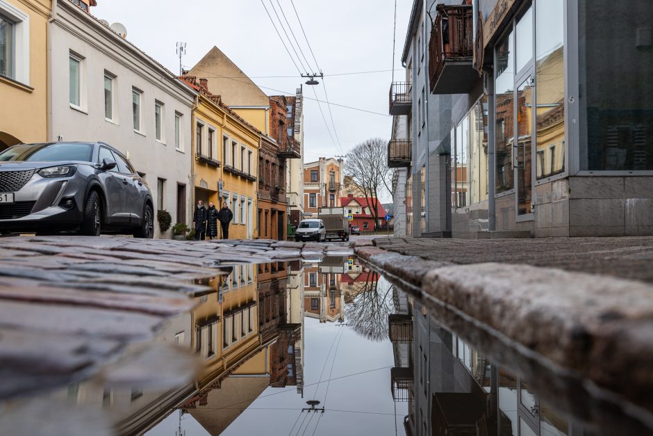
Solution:
[{"label": "pale overcast sky above the rooftops, crossed by overhead wires", "polygon": [[[346,154],[367,138],[390,138],[392,118],[388,115],[388,90],[393,69],[395,0],[292,2],[317,64],[291,0],[97,0],[98,6],[92,8],[91,13],[111,24],[124,24],[128,40],[175,74],[179,73],[179,57],[175,53],[177,41],[186,43],[183,67],[195,65],[215,45],[267,95],[282,92],[294,95],[295,89],[307,80],[299,76],[298,70],[317,72],[319,66],[325,80],[317,79],[321,82],[318,86],[304,85],[304,162],[315,161],[320,156]],[[395,76],[402,75],[400,58],[412,3],[411,0],[397,0]],[[275,11],[297,56],[286,40]],[[297,67],[290,60],[267,13],[286,40]],[[374,72],[348,74],[370,71]],[[347,74],[336,75],[342,73]],[[322,102],[328,97],[333,104],[375,113],[333,104],[329,113],[329,106],[320,103],[323,118],[318,103],[306,98],[315,99],[316,95]]]}]

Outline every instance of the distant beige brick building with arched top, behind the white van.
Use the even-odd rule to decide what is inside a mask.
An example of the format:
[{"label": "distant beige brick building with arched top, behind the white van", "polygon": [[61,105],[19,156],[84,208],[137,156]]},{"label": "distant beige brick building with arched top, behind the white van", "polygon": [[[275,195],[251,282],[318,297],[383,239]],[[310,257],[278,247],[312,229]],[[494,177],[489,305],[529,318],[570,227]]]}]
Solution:
[{"label": "distant beige brick building with arched top, behind the white van", "polygon": [[304,216],[317,215],[320,207],[341,205],[345,177],[342,167],[342,159],[332,157],[304,163]]}]

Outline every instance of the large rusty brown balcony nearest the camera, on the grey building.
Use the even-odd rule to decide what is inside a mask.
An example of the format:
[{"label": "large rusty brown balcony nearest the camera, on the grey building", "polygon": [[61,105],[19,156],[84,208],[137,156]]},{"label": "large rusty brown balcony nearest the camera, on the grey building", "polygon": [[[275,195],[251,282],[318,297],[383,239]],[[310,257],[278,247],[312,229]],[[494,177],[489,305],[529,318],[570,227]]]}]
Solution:
[{"label": "large rusty brown balcony nearest the camera, on the grey building", "polygon": [[479,79],[474,70],[472,6],[437,6],[429,42],[432,94],[466,94]]}]

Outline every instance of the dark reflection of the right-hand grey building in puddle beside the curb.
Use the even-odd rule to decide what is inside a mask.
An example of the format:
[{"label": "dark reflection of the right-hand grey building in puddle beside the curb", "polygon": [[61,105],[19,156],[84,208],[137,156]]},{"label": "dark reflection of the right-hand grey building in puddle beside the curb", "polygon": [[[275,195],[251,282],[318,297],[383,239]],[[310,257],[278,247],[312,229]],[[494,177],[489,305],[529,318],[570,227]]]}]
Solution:
[{"label": "dark reflection of the right-hand grey building in puddle beside the curb", "polygon": [[390,383],[395,401],[408,403],[406,435],[570,434],[568,421],[526,382],[490,364],[402,291],[394,300]]}]

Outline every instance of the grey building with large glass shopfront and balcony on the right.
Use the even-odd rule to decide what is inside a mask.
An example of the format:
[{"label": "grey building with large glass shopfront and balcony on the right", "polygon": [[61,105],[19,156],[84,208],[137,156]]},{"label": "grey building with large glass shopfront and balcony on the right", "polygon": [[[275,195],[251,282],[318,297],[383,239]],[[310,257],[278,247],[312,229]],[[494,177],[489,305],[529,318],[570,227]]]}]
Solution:
[{"label": "grey building with large glass shopfront and balcony on the right", "polygon": [[424,95],[445,164],[423,165],[413,121],[413,234],[653,234],[653,5],[442,3],[413,3],[404,50],[407,71],[427,73],[407,115],[423,116]]}]

